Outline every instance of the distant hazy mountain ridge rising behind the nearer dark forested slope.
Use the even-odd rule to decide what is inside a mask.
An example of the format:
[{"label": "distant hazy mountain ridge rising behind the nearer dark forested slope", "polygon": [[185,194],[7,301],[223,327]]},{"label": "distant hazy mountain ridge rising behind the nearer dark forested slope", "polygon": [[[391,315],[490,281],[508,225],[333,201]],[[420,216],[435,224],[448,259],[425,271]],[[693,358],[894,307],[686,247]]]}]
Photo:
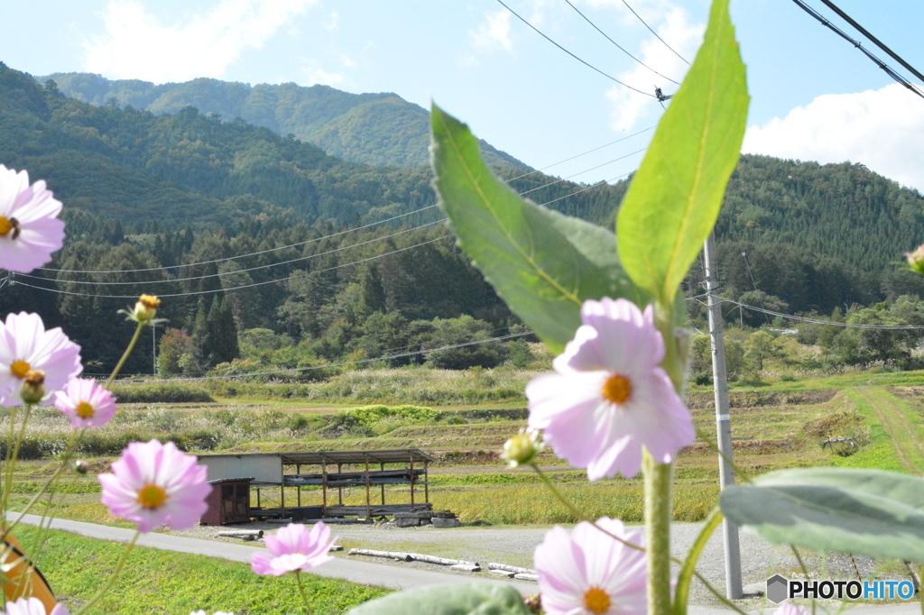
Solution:
[{"label": "distant hazy mountain ridge rising behind the nearer dark forested slope", "polygon": [[[279,135],[314,143],[346,161],[376,165],[419,166],[430,162],[429,115],[390,92],[351,94],[315,85],[269,85],[198,78],[154,85],[138,79],[109,80],[92,73],[54,73],[58,90],[84,103],[103,106],[116,99],[121,107],[174,115],[187,106],[206,115],[236,117]],[[481,141],[488,163],[531,170],[513,156]]]}]

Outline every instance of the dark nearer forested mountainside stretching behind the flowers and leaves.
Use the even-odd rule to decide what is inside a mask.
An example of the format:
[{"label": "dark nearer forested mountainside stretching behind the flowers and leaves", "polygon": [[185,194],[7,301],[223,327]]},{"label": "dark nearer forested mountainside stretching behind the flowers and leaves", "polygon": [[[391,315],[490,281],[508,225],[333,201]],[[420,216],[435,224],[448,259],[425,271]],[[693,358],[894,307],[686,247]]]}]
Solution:
[{"label": "dark nearer forested mountainside stretching behind the flowers and leaves", "polygon": [[[112,368],[131,333],[100,323],[141,292],[164,296],[164,373],[295,368],[522,331],[445,236],[428,166],[348,163],[193,107],[81,103],[2,64],[0,163],[45,179],[67,222],[64,249],[5,286],[0,310],[64,327],[92,371]],[[611,227],[628,187],[495,168],[530,199]],[[716,226],[723,294],[822,314],[924,296],[922,278],[892,264],[924,242],[922,219],[918,191],[862,164],[743,156]],[[695,266],[688,295],[700,280]],[[696,317],[699,304],[688,305]],[[128,370],[147,373],[152,343],[141,344]],[[465,367],[515,354],[500,344],[466,353],[427,356]],[[246,360],[228,363],[238,354]]]}]

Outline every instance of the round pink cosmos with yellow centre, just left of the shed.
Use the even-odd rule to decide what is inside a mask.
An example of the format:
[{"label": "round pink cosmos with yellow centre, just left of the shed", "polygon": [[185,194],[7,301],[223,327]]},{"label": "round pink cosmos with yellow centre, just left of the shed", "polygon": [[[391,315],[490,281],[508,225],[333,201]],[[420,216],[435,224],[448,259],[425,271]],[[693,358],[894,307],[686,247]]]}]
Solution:
[{"label": "round pink cosmos with yellow centre, just left of the shed", "polygon": [[188,529],[208,508],[205,497],[212,487],[205,482],[205,466],[173,442],[132,442],[112,469],[99,476],[100,500],[113,515],[137,523],[142,533],[160,525]]}]

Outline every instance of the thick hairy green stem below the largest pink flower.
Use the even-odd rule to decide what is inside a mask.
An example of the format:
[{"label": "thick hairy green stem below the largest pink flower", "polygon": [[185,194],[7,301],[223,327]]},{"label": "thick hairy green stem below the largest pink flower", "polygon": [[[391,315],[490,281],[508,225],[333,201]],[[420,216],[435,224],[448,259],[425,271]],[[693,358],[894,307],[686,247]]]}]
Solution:
[{"label": "thick hairy green stem below the largest pink flower", "polygon": [[644,452],[645,529],[648,534],[648,612],[671,612],[671,464]]}]

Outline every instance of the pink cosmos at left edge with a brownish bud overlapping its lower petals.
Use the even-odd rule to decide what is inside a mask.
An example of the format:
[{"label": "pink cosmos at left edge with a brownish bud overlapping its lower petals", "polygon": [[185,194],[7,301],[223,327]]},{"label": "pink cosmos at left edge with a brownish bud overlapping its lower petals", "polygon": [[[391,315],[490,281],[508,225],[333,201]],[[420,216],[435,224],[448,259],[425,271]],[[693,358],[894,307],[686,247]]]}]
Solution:
[{"label": "pink cosmos at left edge with a brownish bud overlapping its lower petals", "polygon": [[50,404],[50,393],[63,389],[82,370],[80,346],[59,327],[45,331],[38,314],[9,314],[0,322],[0,404],[22,404],[23,385],[36,377],[45,392],[40,403]]}]

